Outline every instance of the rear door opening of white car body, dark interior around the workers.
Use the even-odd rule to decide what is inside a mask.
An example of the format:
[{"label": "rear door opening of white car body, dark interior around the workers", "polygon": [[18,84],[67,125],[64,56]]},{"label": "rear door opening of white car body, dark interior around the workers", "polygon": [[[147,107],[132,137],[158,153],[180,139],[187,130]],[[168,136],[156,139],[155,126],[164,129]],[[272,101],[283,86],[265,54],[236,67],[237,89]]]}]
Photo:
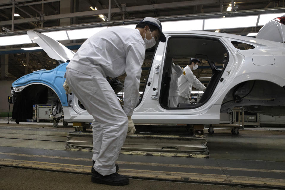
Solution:
[{"label": "rear door opening of white car body, dark interior around the workers", "polygon": [[[190,59],[199,59],[194,76],[206,87],[204,92],[193,85],[189,92],[189,102],[178,101],[177,107],[171,106],[169,97],[173,85],[172,62],[182,68],[190,64]],[[218,39],[199,37],[172,37],[167,42],[167,53],[162,76],[160,104],[165,109],[194,109],[205,104],[219,83],[228,62],[228,52]],[[181,76],[183,76],[182,74]],[[176,81],[176,80],[175,80]],[[178,83],[178,85],[180,85]],[[181,91],[181,89],[179,89]],[[172,104],[173,105],[173,104]]]}]

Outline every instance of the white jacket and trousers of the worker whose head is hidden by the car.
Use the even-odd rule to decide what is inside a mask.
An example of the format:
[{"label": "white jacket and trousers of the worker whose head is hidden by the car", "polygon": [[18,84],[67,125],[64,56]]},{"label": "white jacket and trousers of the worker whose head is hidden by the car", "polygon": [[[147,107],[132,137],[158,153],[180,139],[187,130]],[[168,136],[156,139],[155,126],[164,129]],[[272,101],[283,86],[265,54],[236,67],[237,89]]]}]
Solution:
[{"label": "white jacket and trousers of the worker whose head is hidden by the car", "polygon": [[172,63],[171,80],[168,94],[168,106],[177,107],[178,105],[178,78],[183,74],[183,69],[179,65]]}]

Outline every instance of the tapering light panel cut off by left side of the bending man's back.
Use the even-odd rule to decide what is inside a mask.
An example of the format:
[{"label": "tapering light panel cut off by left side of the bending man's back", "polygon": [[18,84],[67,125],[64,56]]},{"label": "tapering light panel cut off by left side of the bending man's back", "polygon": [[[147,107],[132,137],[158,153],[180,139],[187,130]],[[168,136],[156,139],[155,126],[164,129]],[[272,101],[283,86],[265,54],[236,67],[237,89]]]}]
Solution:
[{"label": "tapering light panel cut off by left side of the bending man's back", "polygon": [[97,32],[106,29],[107,27],[97,27],[97,28],[91,28],[91,29],[78,29],[78,30],[67,30],[67,34],[69,36],[69,39],[85,39],[93,36]]}]

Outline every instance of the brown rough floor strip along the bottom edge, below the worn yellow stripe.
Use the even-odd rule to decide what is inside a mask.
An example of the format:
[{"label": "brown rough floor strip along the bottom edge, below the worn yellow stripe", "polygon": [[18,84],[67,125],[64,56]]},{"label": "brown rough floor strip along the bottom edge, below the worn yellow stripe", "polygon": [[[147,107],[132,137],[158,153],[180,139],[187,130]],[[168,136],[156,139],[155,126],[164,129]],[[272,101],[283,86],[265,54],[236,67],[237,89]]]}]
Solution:
[{"label": "brown rough floor strip along the bottom edge, below the worn yellow stripe", "polygon": [[79,175],[60,172],[47,172],[22,168],[1,167],[1,190],[257,190],[259,188],[207,185],[195,183],[179,183],[167,181],[151,181],[131,179],[127,186],[107,186],[91,182],[90,175]]}]

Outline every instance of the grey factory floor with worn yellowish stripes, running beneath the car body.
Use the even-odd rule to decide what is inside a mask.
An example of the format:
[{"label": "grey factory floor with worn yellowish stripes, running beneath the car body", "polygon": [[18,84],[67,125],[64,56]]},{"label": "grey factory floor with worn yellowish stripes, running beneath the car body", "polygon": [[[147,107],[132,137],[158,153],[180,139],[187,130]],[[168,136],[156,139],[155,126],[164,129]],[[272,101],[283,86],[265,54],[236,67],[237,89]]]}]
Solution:
[{"label": "grey factory floor with worn yellowish stripes, running beneath the car body", "polygon": [[67,132],[50,123],[0,121],[0,190],[10,189],[284,189],[285,128],[206,133],[210,158],[120,154],[128,186],[91,183],[88,151],[66,151]]}]

